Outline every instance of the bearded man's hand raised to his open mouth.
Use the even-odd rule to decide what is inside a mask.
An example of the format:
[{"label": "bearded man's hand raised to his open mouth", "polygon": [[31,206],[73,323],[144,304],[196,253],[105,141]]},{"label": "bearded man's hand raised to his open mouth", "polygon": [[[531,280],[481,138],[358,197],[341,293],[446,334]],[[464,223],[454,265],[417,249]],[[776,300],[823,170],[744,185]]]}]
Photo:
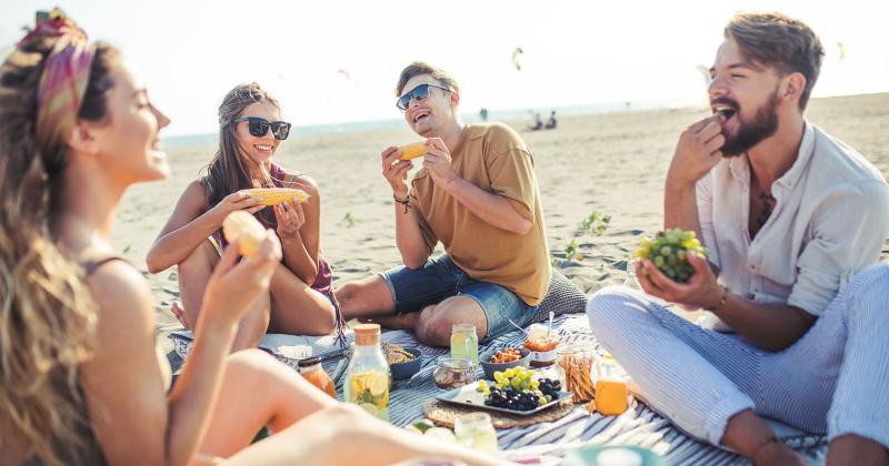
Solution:
[{"label": "bearded man's hand raised to his open mouth", "polygon": [[667,185],[690,188],[722,159],[722,116],[707,116],[688,126],[679,142],[667,172]]}]

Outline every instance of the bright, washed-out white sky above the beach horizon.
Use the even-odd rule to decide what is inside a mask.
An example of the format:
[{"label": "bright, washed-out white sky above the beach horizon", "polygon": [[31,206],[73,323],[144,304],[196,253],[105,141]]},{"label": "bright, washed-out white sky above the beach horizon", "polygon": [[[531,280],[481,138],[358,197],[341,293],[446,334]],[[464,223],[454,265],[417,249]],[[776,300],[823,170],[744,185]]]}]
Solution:
[{"label": "bright, washed-out white sky above the beach horizon", "polygon": [[[297,125],[398,118],[393,87],[412,60],[450,71],[466,112],[703,102],[697,67],[711,63],[731,14],[750,9],[793,16],[821,36],[816,97],[889,91],[885,0],[9,3],[0,47],[21,37],[36,9],[60,6],[91,38],[123,50],[172,118],[168,134],[214,131],[221,98],[243,81],[272,90]],[[517,47],[522,71],[511,61]]]}]

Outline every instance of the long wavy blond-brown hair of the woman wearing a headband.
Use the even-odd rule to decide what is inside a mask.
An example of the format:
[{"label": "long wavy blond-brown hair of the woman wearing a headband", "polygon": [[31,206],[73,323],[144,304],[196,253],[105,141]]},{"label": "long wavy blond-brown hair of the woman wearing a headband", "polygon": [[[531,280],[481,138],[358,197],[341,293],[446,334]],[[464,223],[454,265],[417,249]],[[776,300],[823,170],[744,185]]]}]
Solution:
[{"label": "long wavy blond-brown hair of the woman wearing a headband", "polygon": [[[29,36],[0,67],[0,423],[47,465],[90,462],[98,450],[78,384],[96,306],[52,231],[67,148],[41,151],[34,138],[38,82],[56,40]],[[101,122],[118,52],[96,47],[78,118]]]}]

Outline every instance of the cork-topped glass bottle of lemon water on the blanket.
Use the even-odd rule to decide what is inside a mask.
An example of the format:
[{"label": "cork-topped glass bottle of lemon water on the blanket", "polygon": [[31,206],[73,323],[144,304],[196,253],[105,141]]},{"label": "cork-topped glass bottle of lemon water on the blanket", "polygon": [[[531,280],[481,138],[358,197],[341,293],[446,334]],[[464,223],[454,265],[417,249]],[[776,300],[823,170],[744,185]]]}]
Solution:
[{"label": "cork-topped glass bottle of lemon water on the blanket", "polygon": [[389,364],[380,348],[380,326],[354,327],[354,353],[346,369],[343,398],[380,419],[389,421]]}]

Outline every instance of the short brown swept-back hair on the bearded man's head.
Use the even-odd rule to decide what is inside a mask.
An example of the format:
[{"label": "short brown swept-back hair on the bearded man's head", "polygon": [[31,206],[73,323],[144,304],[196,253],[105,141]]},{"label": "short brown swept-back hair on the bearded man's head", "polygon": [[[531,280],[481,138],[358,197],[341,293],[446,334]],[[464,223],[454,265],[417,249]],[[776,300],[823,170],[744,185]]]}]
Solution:
[{"label": "short brown swept-back hair on the bearded man's head", "polygon": [[748,12],[736,14],[723,34],[738,43],[745,58],[775,67],[783,75],[799,72],[806,77],[799,98],[799,109],[806,110],[825,57],[821,40],[811,28],[781,13]]}]

